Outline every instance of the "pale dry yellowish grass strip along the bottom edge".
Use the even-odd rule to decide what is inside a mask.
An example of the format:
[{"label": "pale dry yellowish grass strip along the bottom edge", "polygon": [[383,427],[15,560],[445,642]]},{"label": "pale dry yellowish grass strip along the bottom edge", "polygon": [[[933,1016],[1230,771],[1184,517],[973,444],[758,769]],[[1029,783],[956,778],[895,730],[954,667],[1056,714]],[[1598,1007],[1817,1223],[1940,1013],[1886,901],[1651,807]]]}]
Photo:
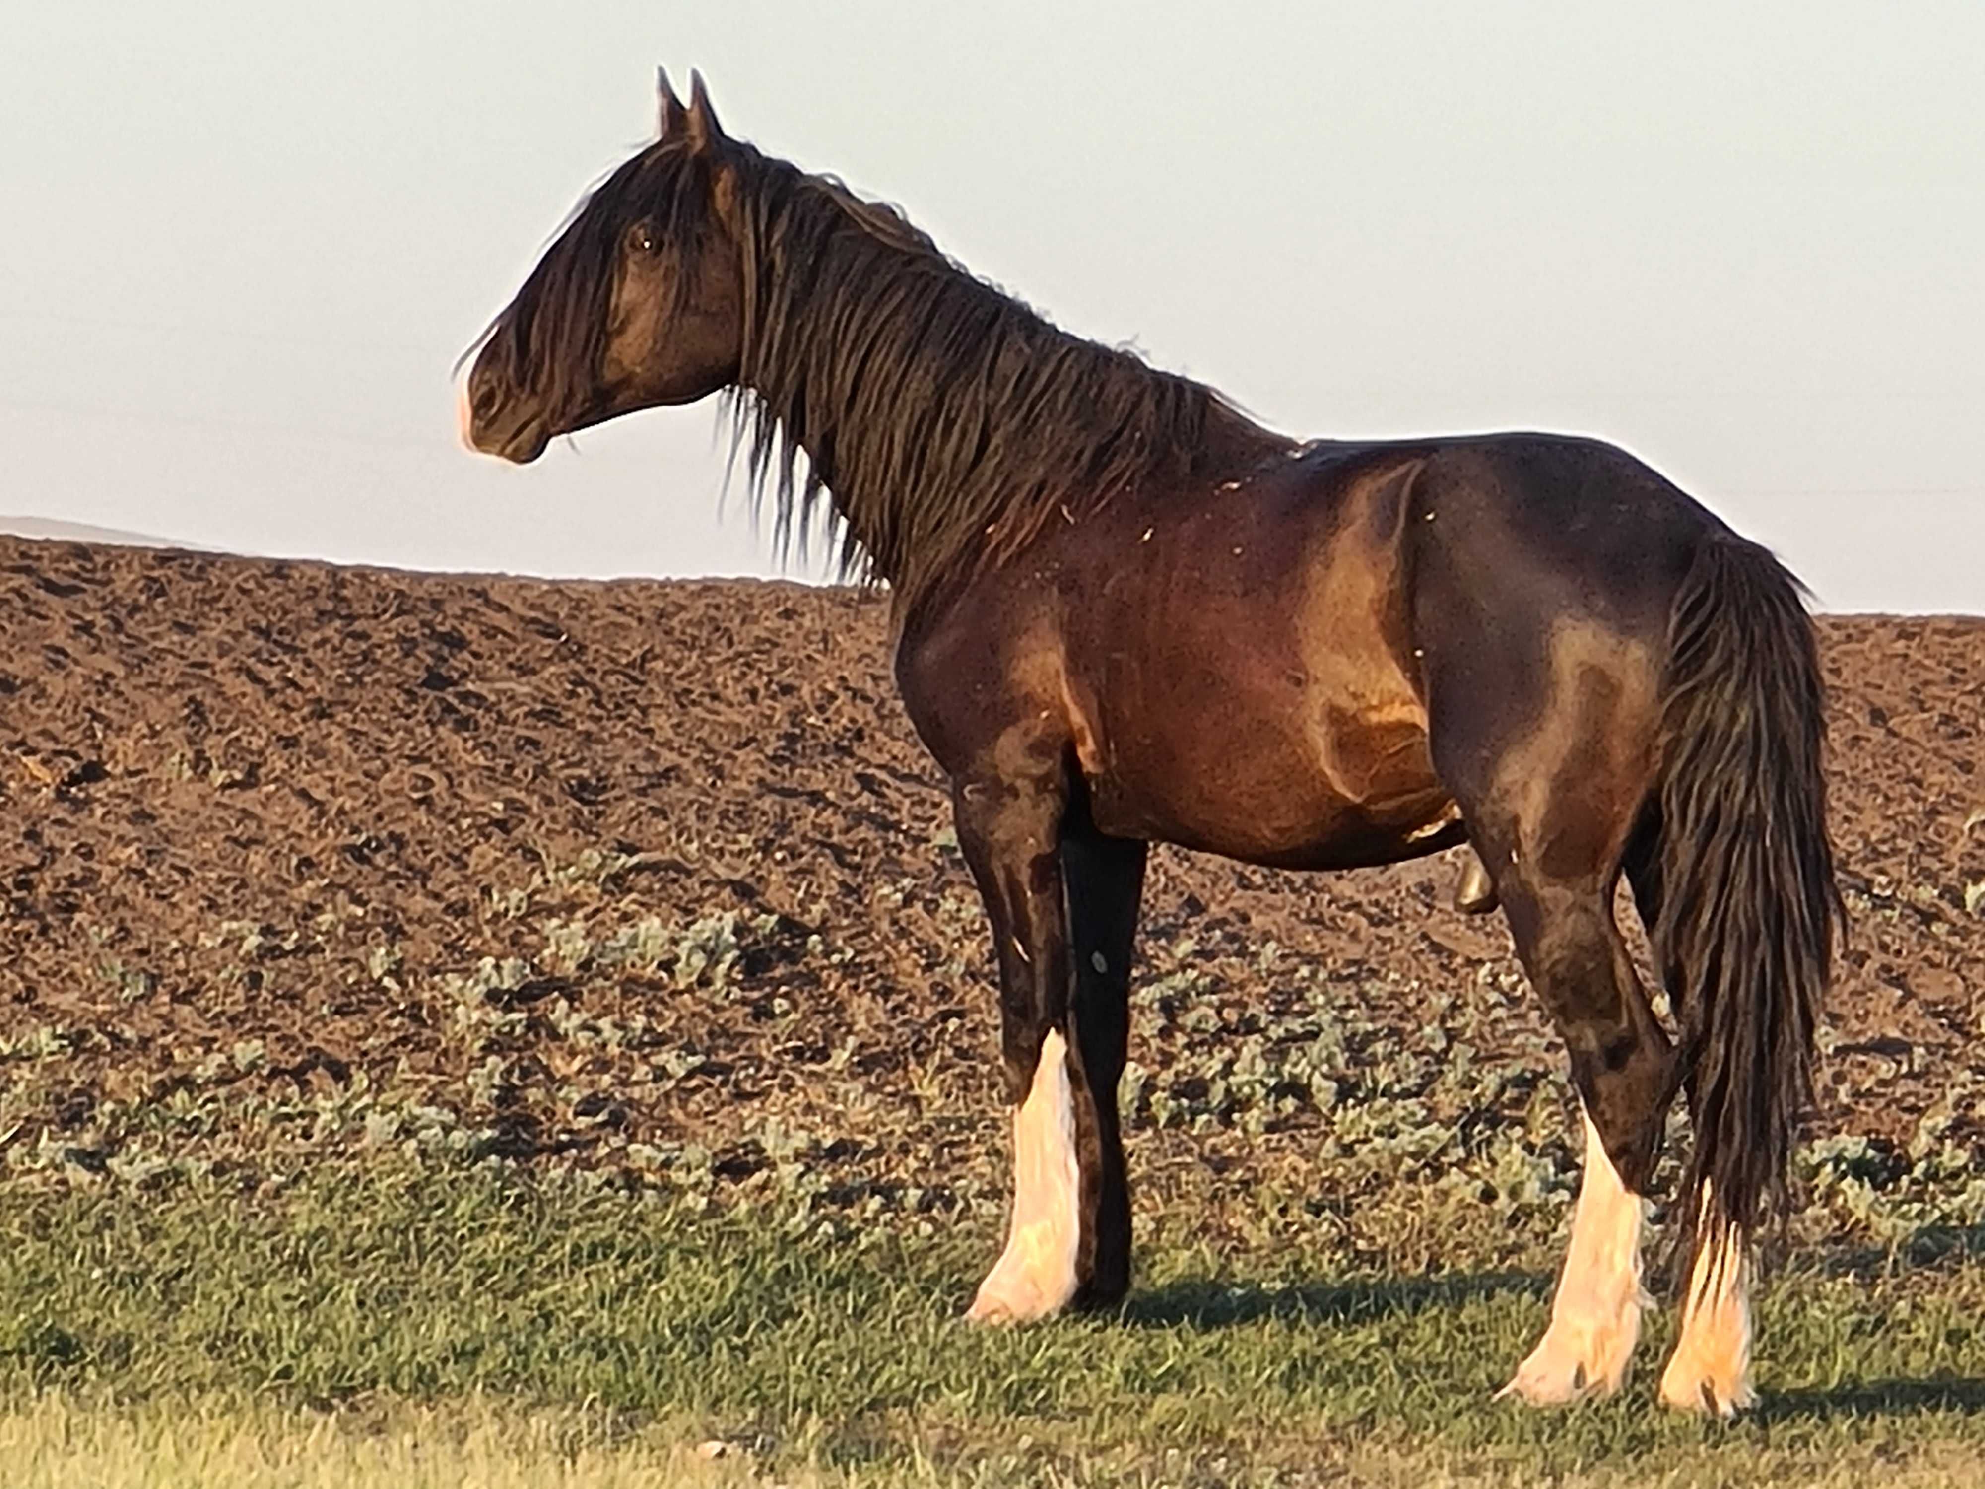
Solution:
[{"label": "pale dry yellowish grass strip along the bottom edge", "polygon": [[[1137,1467],[1068,1467],[1028,1451],[989,1451],[939,1463],[929,1455],[860,1465],[780,1463],[750,1443],[693,1441],[661,1425],[627,1425],[599,1412],[516,1412],[502,1402],[389,1402],[371,1410],[320,1412],[242,1398],[169,1398],[117,1404],[44,1394],[0,1410],[0,1463],[10,1489],[742,1489],[786,1485],[1127,1485],[1330,1483],[1386,1489],[1453,1489],[1538,1483],[1517,1455],[1461,1459],[1433,1447],[1320,1443],[1306,1467],[1235,1461],[1187,1467],[1179,1453],[1153,1453]],[[1552,1483],[1564,1489],[1673,1485],[1808,1485],[1810,1489],[1969,1489],[1979,1459],[1961,1445],[1927,1443],[1906,1453],[1842,1445],[1816,1455],[1779,1447],[1713,1445],[1657,1463],[1590,1463]]]}]

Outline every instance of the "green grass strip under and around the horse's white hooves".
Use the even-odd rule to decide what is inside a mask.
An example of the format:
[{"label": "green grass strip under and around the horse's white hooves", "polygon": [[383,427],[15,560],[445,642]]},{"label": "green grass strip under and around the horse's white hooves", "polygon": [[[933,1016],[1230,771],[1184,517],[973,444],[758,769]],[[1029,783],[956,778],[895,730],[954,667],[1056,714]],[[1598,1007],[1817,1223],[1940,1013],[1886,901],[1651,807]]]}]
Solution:
[{"label": "green grass strip under and around the horse's white hooves", "polygon": [[764,1475],[861,1481],[1985,1473],[1985,1267],[1961,1257],[1783,1275],[1761,1300],[1763,1410],[1717,1427],[1652,1402],[1665,1312],[1620,1400],[1540,1414],[1489,1398],[1542,1324],[1542,1277],[1360,1277],[1324,1251],[1211,1255],[1187,1217],[1153,1229],[1122,1316],[987,1332],[957,1322],[992,1255],[983,1227],[828,1235],[574,1181],[379,1167],[254,1197],[8,1185],[0,1400],[16,1425],[69,1412],[117,1441],[161,1421],[206,1423],[198,1441],[330,1433],[324,1451],[423,1410],[474,1441],[496,1412],[568,1421],[566,1447],[540,1441],[568,1467],[582,1449],[659,1465],[681,1455],[657,1441],[725,1439]]}]

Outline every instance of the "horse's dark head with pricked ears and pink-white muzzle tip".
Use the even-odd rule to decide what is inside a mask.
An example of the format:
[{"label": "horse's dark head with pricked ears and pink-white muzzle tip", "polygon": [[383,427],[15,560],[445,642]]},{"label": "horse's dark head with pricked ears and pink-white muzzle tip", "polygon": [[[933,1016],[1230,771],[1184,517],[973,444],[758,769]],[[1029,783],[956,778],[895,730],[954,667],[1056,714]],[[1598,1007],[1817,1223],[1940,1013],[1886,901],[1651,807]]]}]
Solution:
[{"label": "horse's dark head with pricked ears and pink-white muzzle tip", "polygon": [[659,83],[661,139],[580,204],[463,379],[463,439],[486,455],[536,461],[556,435],[736,381],[750,147],[725,139],[701,77],[687,107]]}]

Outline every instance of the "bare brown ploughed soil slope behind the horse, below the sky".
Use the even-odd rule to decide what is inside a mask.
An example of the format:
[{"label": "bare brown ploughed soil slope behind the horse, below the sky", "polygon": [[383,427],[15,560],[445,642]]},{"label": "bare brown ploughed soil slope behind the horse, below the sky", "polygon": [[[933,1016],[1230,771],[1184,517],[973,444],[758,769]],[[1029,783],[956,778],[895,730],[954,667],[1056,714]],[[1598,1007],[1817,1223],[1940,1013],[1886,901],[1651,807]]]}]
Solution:
[{"label": "bare brown ploughed soil slope behind the horse, below the sky", "polygon": [[[1985,619],[1820,629],[1854,931],[1816,1130],[1906,1144],[1985,1076]],[[0,538],[0,1163],[254,1169],[441,1124],[719,1191],[996,1193],[987,933],[887,663],[885,604],[838,590]],[[1457,1038],[1505,1068],[1493,1122],[1556,1102],[1455,872],[1155,856],[1147,1187],[1302,1191],[1334,1104]],[[226,1102],[260,1148],[220,1140]]]}]

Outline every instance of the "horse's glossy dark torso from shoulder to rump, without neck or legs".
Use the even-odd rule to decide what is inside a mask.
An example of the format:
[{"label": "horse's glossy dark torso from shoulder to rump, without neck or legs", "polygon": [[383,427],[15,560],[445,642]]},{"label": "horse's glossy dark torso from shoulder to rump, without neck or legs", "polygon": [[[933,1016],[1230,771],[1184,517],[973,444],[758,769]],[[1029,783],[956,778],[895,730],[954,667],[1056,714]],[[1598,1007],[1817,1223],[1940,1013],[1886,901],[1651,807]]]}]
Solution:
[{"label": "horse's glossy dark torso from shoulder to rump, without neck or legs", "polygon": [[[1570,709],[1542,735],[1590,743],[1590,719],[1628,752],[1652,741],[1667,604],[1711,522],[1596,441],[1284,449],[991,574],[905,699],[941,760],[992,750],[994,717],[1062,731],[1106,832],[1286,866],[1413,858],[1461,834],[1443,733],[1451,758],[1503,760]],[[1006,701],[969,703],[965,669],[1000,673]]]}]

